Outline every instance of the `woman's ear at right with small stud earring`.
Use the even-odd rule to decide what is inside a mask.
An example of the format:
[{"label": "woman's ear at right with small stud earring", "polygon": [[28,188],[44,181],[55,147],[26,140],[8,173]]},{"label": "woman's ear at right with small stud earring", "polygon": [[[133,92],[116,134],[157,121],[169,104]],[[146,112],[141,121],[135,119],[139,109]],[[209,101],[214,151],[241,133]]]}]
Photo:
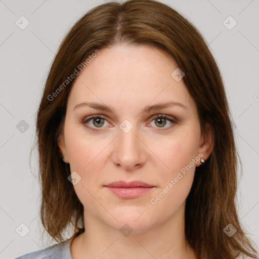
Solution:
[{"label": "woman's ear at right with small stud earring", "polygon": [[[214,130],[212,125],[207,122],[205,125],[205,130],[200,138],[199,153],[203,154],[203,159],[208,159],[214,147]],[[199,165],[202,163],[200,162]]]}]

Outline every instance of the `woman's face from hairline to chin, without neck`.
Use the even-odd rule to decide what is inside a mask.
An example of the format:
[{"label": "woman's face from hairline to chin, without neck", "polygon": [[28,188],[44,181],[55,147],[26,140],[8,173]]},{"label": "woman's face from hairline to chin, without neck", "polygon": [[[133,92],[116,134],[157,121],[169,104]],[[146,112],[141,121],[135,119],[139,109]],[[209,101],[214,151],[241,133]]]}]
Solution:
[{"label": "woman's face from hairline to chin, without neck", "polygon": [[[195,167],[209,154],[177,68],[158,49],[116,46],[101,50],[76,77],[59,146],[85,215],[137,233],[184,209]],[[167,102],[178,104],[159,108]],[[106,187],[117,181],[151,187]]]}]

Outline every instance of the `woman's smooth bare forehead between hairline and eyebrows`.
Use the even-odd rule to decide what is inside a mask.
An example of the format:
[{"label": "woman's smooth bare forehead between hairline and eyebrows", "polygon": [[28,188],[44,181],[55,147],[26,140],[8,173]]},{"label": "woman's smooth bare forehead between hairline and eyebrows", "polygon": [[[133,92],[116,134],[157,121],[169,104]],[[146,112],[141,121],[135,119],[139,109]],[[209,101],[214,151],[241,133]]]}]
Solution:
[{"label": "woman's smooth bare forehead between hairline and eyebrows", "polygon": [[[85,101],[148,105],[175,101],[195,105],[183,80],[171,73],[178,66],[163,51],[149,46],[113,46],[100,50],[73,82],[68,105]],[[73,108],[70,107],[70,108]]]}]

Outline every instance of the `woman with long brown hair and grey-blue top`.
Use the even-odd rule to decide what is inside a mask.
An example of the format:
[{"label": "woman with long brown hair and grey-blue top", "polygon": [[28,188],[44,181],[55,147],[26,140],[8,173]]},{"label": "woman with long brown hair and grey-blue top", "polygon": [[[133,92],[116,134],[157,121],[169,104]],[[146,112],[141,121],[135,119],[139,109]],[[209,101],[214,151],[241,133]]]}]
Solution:
[{"label": "woman with long brown hair and grey-blue top", "polygon": [[41,221],[60,243],[19,258],[256,257],[235,207],[221,74],[174,9],[132,0],[79,19],[49,72],[37,137]]}]

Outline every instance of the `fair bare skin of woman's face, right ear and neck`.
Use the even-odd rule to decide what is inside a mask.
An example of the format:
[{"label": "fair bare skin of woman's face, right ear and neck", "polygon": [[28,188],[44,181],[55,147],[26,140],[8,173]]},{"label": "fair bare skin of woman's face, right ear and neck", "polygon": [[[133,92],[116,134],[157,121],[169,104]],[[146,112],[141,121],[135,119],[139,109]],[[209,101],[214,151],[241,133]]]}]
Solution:
[{"label": "fair bare skin of woman's face, right ear and neck", "polygon": [[[81,258],[196,258],[186,244],[184,211],[196,166],[186,172],[156,204],[151,203],[192,159],[213,148],[213,131],[201,135],[197,107],[183,79],[171,73],[175,61],[148,46],[113,46],[100,54],[76,77],[69,95],[59,147],[71,172],[81,177],[74,190],[84,207],[85,232],[71,244],[73,259]],[[143,109],[166,101],[184,104],[149,113]],[[82,106],[98,102],[114,113]],[[102,115],[101,127],[90,115]],[[159,127],[155,114],[176,118]],[[133,128],[125,133],[124,120]],[[89,127],[88,127],[88,126]],[[92,131],[95,128],[97,131]],[[155,186],[138,198],[115,196],[105,184],[118,180],[143,181]],[[127,224],[132,233],[124,236]],[[98,257],[97,257],[98,256]]]}]

